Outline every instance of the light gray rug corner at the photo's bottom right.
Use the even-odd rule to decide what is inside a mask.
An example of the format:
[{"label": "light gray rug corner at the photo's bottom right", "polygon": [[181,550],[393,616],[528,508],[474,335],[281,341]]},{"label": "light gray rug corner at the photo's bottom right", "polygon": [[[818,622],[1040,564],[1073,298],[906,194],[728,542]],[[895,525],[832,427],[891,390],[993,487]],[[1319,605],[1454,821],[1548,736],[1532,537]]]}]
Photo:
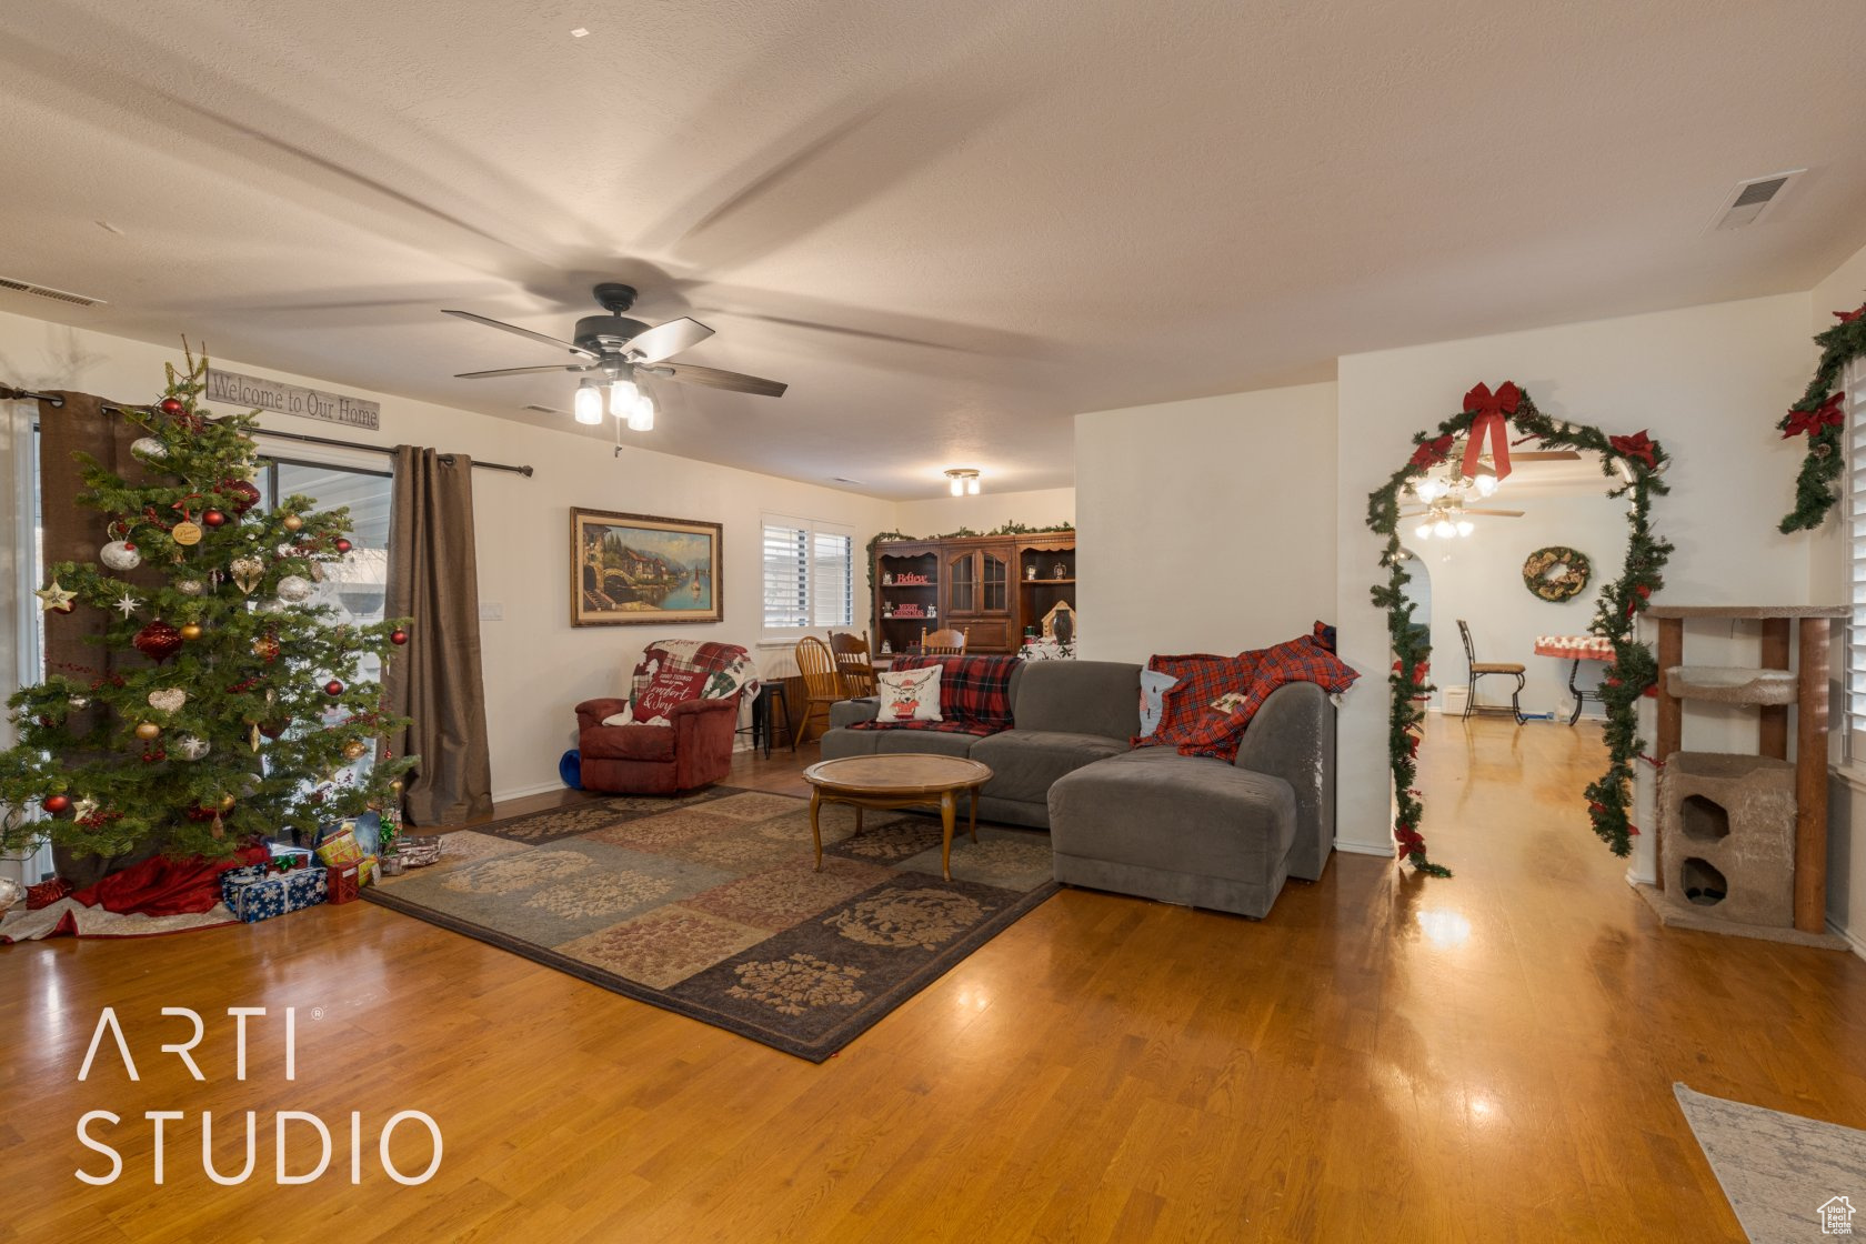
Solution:
[{"label": "light gray rug corner at the photo's bottom right", "polygon": [[1866,1132],[1672,1091],[1752,1244],[1853,1235],[1855,1207],[1866,1218]]}]

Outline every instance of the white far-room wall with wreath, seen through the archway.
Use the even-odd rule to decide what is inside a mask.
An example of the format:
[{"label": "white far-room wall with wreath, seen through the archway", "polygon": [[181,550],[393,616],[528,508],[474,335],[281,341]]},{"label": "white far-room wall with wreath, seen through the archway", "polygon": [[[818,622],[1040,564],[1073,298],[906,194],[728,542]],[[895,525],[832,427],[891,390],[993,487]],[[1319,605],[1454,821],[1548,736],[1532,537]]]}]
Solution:
[{"label": "white far-room wall with wreath, seen through the archway", "polygon": [[[1594,599],[1599,584],[1618,578],[1625,563],[1627,509],[1623,502],[1607,496],[1607,481],[1590,494],[1521,494],[1510,491],[1506,479],[1487,507],[1521,509],[1521,518],[1474,518],[1476,530],[1463,539],[1416,539],[1401,532],[1416,561],[1407,563],[1414,574],[1424,569],[1431,576],[1431,671],[1439,686],[1437,707],[1444,703],[1444,688],[1465,686],[1465,653],[1457,640],[1457,619],[1470,623],[1478,660],[1515,660],[1525,666],[1528,683],[1523,688],[1525,712],[1558,712],[1567,722],[1573,698],[1567,694],[1571,660],[1538,657],[1532,649],[1538,634],[1584,634],[1594,621]],[[1573,601],[1543,601],[1523,586],[1523,561],[1547,545],[1566,545],[1588,556],[1594,576],[1586,591]],[[1581,688],[1599,684],[1603,666],[1581,662]],[[1489,675],[1478,683],[1478,703],[1510,703],[1515,679]],[[1582,716],[1603,716],[1592,699]]]}]

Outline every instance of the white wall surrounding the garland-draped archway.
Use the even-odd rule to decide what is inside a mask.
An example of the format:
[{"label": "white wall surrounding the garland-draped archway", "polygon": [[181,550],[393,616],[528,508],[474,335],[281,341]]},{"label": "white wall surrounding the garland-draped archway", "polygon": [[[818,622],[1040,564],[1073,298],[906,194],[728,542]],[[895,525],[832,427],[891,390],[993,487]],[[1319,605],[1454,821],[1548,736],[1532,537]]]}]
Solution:
[{"label": "white wall surrounding the garland-draped archway", "polygon": [[[1806,369],[1808,295],[1340,360],[1338,625],[1344,658],[1370,675],[1349,692],[1340,718],[1340,843],[1390,849],[1386,694],[1377,681],[1390,657],[1385,617],[1368,599],[1379,541],[1366,528],[1366,498],[1405,461],[1413,433],[1455,412],[1478,380],[1515,380],[1556,418],[1610,433],[1650,429],[1678,459],[1666,476],[1672,494],[1659,498],[1653,513],[1657,530],[1678,546],[1657,599],[1795,604],[1808,599],[1808,545],[1775,524],[1791,492],[1799,446],[1784,444],[1771,423],[1806,384]],[[1720,642],[1694,632],[1689,655],[1707,664],[1754,664],[1754,634]],[[1650,739],[1650,711],[1646,716]],[[1754,746],[1752,720],[1752,712],[1737,720],[1692,709],[1685,746]],[[1642,781],[1636,822],[1651,824],[1650,781]],[[1577,826],[1586,832],[1579,819]],[[1655,837],[1635,839],[1635,875],[1651,875]]]}]

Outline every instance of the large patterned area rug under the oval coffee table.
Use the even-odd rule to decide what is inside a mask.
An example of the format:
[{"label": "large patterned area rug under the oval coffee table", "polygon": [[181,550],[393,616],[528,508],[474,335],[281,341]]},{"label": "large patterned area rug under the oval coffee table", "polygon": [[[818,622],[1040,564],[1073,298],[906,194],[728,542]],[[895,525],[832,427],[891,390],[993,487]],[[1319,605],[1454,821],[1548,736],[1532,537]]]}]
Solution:
[{"label": "large patterned area rug under the oval coffee table", "polygon": [[713,787],[448,834],[364,897],[821,1063],[1056,892],[1049,834]]}]

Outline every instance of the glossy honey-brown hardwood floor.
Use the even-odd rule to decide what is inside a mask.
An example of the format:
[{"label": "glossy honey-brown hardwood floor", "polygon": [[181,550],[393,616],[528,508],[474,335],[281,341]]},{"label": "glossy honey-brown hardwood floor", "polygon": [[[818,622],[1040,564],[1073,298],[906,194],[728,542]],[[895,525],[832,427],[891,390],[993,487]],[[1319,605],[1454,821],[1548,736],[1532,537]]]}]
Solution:
[{"label": "glossy honey-brown hardwood floor", "polygon": [[[801,791],[812,752],[731,781]],[[1741,1240],[1672,1082],[1866,1125],[1866,962],[1661,931],[1586,828],[1595,727],[1433,720],[1422,755],[1454,880],[1336,854],[1261,923],[1064,892],[821,1067],[371,905],[0,949],[0,1238]],[[77,1080],[106,1005],[134,1084],[108,1037]],[[160,1007],[207,1020],[205,1084]],[[73,1177],[108,1169],[88,1110],[110,1186]],[[146,1110],[187,1112],[159,1188]],[[224,1171],[259,1112],[248,1182],[203,1175],[203,1110]],[[330,1127],[317,1182],[274,1184],[280,1110]],[[377,1158],[401,1110],[446,1138],[422,1186]]]}]

